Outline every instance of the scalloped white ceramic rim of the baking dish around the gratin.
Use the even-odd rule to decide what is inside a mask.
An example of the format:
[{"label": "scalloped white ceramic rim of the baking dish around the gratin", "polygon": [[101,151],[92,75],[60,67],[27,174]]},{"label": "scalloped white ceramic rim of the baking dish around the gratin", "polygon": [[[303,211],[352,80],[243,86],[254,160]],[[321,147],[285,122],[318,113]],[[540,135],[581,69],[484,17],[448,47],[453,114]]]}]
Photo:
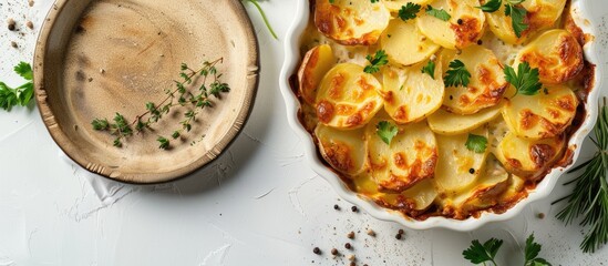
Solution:
[{"label": "scalloped white ceramic rim of the baking dish around the gratin", "polygon": [[[573,18],[585,33],[597,35],[595,27],[598,24],[598,22],[590,19],[590,16],[588,16],[588,8],[598,8],[598,6],[604,6],[605,8],[608,8],[608,3],[602,2],[601,0],[573,0],[571,2],[570,12],[573,13]],[[415,221],[403,216],[403,214],[399,212],[383,208],[377,205],[371,200],[359,196],[357,193],[350,191],[348,186],[340,180],[340,177],[321,162],[322,158],[320,158],[317,154],[312,136],[305,130],[305,127],[300,124],[298,120],[298,110],[300,109],[300,103],[293,94],[292,89],[290,88],[289,78],[293,73],[296,73],[297,68],[300,64],[300,37],[302,35],[308,24],[310,16],[309,0],[297,0],[297,12],[295,14],[295,20],[285,38],[285,62],[281,69],[279,81],[281,93],[287,105],[287,117],[293,131],[306,143],[306,157],[312,170],[317,172],[320,176],[322,176],[342,198],[361,207],[373,217],[383,221],[396,222],[412,229],[443,227],[463,232],[473,231],[491,222],[509,219],[519,214],[529,203],[547,197],[557,184],[559,176],[561,176],[574,165],[573,163],[567,167],[554,168],[549,174],[545,176],[545,178],[537,185],[534,191],[529,192],[528,197],[522,200],[507,212],[503,214],[484,212],[480,217],[470,217],[464,221],[445,217],[431,217],[425,221]],[[595,86],[588,95],[588,101],[586,103],[587,114],[585,121],[580,129],[570,137],[568,142],[568,146],[576,147],[573,157],[574,162],[576,162],[580,154],[583,141],[589,134],[589,132],[592,131],[595,122],[597,120],[598,98],[600,91],[599,88],[601,88],[600,73],[602,73],[602,65],[597,63],[599,62],[599,54],[597,52],[596,45],[596,41],[591,40],[584,48],[586,59],[589,62],[596,64],[594,83]]]}]

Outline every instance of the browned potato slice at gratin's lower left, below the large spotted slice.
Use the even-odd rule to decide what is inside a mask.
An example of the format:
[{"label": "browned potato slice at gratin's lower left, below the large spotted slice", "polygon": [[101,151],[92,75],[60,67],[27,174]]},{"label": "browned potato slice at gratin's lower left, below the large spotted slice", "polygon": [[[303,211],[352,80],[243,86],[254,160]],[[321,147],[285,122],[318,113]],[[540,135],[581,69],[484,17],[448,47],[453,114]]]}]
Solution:
[{"label": "browned potato slice at gratin's lower left, below the large spotted slice", "polygon": [[340,131],[319,124],[315,135],[319,140],[321,155],[334,170],[349,176],[365,170],[363,129]]}]

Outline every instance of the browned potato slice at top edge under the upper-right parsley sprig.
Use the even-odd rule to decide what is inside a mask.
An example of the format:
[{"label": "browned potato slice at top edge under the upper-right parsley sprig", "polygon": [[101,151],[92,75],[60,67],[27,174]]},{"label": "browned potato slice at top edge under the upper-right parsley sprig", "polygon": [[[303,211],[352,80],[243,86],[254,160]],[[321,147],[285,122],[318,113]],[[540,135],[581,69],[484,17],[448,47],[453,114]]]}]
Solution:
[{"label": "browned potato slice at top edge under the upper-right parsley sprig", "polygon": [[[488,0],[481,0],[482,3]],[[521,44],[544,29],[552,27],[564,11],[566,0],[528,0],[522,6],[527,11],[525,23],[528,29],[517,38],[511,16],[505,14],[504,4],[496,12],[486,13],[490,29],[496,37],[511,44]]]}]

